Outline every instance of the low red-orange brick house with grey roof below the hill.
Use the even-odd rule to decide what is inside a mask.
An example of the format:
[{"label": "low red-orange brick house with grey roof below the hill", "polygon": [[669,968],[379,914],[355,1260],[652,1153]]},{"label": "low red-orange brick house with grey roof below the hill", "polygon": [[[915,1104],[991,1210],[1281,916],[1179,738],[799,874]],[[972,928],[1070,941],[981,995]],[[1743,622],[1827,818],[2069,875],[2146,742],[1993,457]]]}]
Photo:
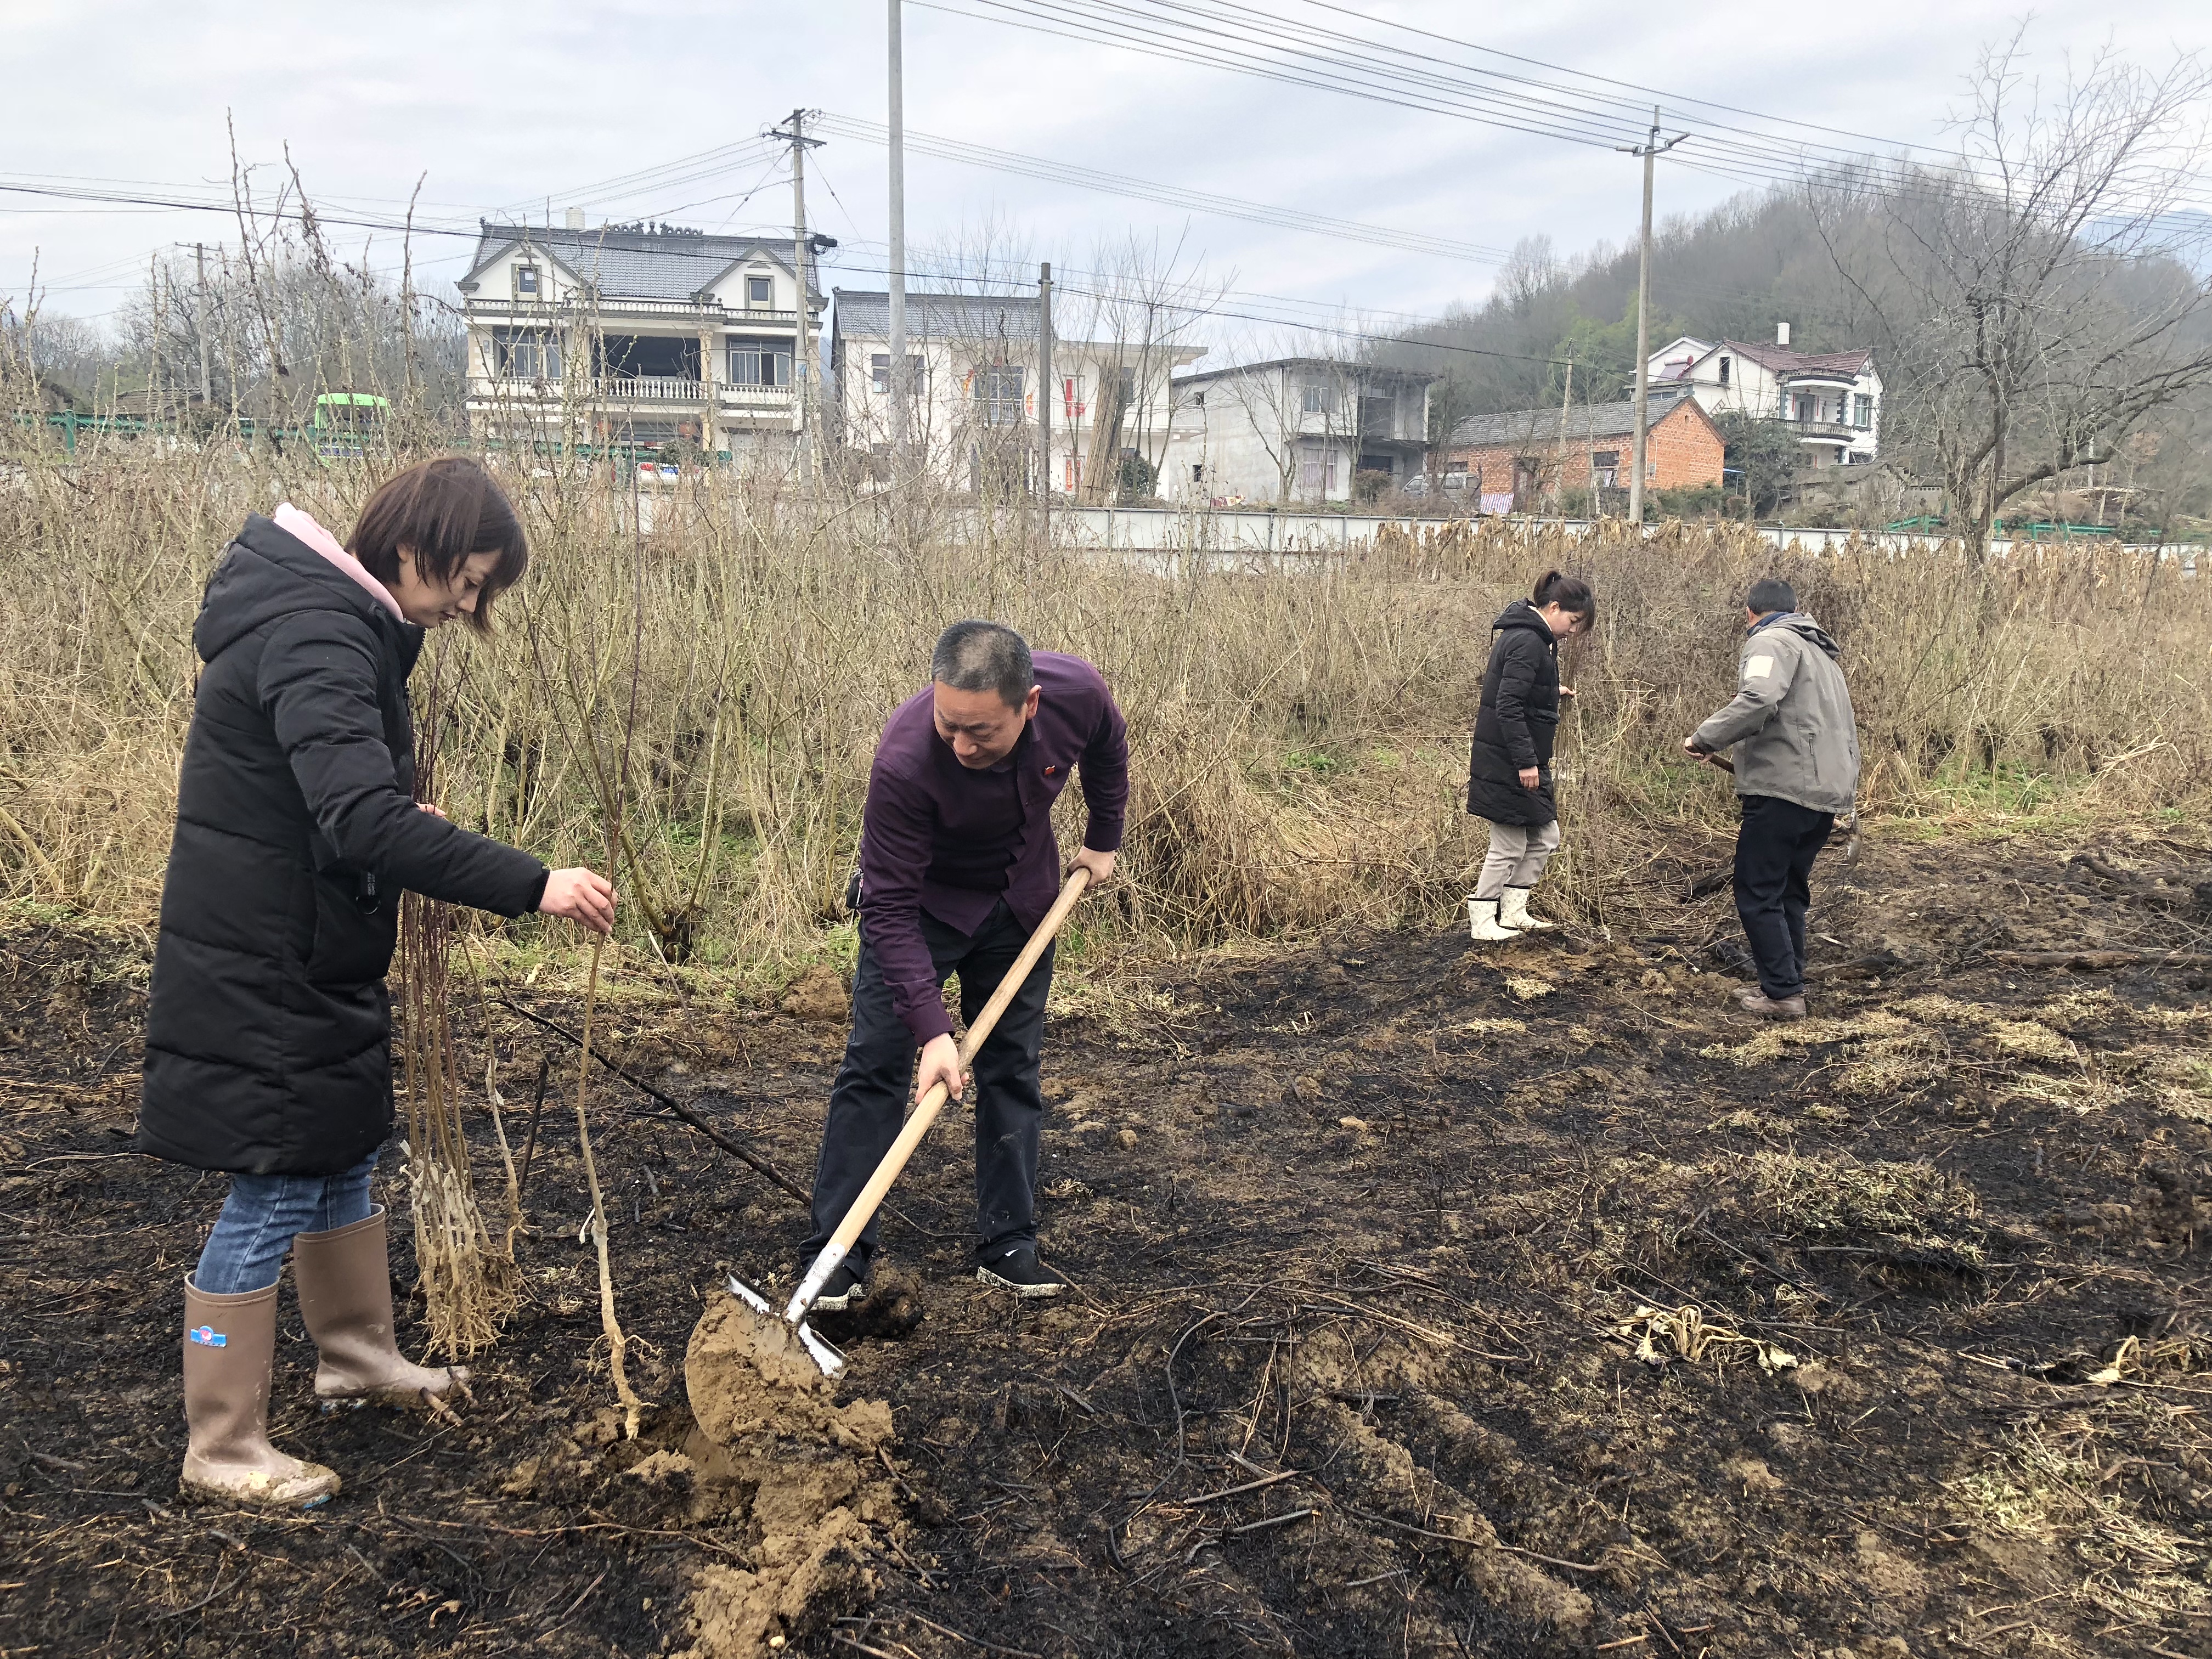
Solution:
[{"label": "low red-orange brick house with grey roof below the hill", "polygon": [[[1566,442],[1557,409],[1517,409],[1473,416],[1453,427],[1436,458],[1438,484],[1467,491],[1484,513],[1528,513],[1559,487],[1577,491],[1628,489],[1637,416],[1632,403],[1595,403],[1566,411]],[[1657,394],[1646,416],[1646,489],[1688,489],[1721,482],[1721,429],[1694,398]]]}]

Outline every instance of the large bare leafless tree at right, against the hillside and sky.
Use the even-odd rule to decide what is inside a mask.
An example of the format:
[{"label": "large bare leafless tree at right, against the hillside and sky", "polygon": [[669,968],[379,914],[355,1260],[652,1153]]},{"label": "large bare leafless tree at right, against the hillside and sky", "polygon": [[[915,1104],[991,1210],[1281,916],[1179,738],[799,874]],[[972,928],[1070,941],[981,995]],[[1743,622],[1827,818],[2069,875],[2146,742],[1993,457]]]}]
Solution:
[{"label": "large bare leafless tree at right, against the hillside and sky", "polygon": [[2208,221],[2188,201],[2212,73],[2099,53],[2044,88],[2013,33],[1969,93],[1955,164],[1829,179],[1812,206],[1871,316],[1891,440],[1938,462],[1980,553],[2006,502],[2110,467],[2212,383]]}]

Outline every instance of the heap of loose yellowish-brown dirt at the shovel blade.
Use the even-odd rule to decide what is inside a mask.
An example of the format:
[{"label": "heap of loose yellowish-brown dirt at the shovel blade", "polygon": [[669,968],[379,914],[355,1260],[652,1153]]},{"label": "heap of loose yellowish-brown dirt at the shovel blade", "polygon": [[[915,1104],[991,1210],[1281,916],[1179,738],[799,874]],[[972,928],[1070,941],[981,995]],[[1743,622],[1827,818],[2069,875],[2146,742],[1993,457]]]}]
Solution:
[{"label": "heap of loose yellowish-brown dirt at the shovel blade", "polygon": [[[785,1648],[876,1595],[872,1531],[898,1506],[883,1400],[838,1405],[836,1387],[781,1321],[717,1294],[684,1354],[697,1433],[692,1517],[743,1515],[748,1566],[708,1566],[686,1606],[690,1659],[752,1659]],[[880,1478],[878,1478],[880,1469]]]}]

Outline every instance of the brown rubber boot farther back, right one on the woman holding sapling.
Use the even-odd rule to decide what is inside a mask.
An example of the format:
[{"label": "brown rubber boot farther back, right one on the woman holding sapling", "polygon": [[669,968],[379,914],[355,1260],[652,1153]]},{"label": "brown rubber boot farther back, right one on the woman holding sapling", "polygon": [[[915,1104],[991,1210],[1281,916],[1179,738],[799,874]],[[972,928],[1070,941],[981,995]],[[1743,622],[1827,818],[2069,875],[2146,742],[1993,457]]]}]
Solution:
[{"label": "brown rubber boot farther back, right one on the woman holding sapling", "polygon": [[392,1259],[385,1254],[385,1208],[332,1232],[292,1237],[292,1281],[299,1314],[323,1354],[314,1374],[319,1400],[405,1405],[442,1411],[449,1394],[469,1396],[458,1365],[409,1363],[392,1340]]}]

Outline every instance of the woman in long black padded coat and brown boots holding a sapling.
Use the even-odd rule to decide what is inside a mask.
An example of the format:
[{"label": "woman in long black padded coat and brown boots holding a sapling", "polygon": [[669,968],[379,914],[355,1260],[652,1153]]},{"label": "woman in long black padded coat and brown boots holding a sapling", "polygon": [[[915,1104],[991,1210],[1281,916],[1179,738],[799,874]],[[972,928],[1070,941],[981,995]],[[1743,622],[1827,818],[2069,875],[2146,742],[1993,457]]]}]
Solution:
[{"label": "woman in long black padded coat and brown boots holding a sapling", "polygon": [[427,1407],[467,1383],[394,1345],[369,1206],[392,1135],[400,891],[602,933],[615,914],[593,872],[546,872],[414,801],[422,630],[487,630],[526,560],[498,484],[434,460],[376,491],[349,546],[292,504],[248,518],[201,599],[139,1108],[142,1150],[230,1175],[184,1281],[186,1493],[305,1506],[338,1489],[268,1442],[285,1250],[319,1398]]}]

